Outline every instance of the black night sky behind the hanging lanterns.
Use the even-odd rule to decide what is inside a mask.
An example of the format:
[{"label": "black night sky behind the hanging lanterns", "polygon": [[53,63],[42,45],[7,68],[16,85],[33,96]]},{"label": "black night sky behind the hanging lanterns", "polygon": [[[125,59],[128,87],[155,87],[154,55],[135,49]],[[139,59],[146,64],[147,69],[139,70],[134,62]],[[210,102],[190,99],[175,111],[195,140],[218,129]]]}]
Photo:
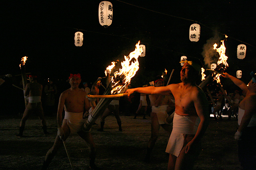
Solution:
[{"label": "black night sky behind the hanging lanterns", "polygon": [[[165,68],[166,80],[175,69],[172,83],[178,83],[180,57],[196,57],[203,62],[204,45],[211,38],[220,43],[224,34],[229,36],[225,40],[227,72],[235,76],[236,70],[242,70],[242,80],[248,82],[250,71],[256,70],[256,13],[252,2],[110,2],[113,21],[107,28],[98,21],[100,1],[96,0],[2,2],[0,75],[20,74],[20,59],[27,56],[27,72],[38,72],[42,79],[67,79],[70,73],[80,72],[83,80],[94,82],[104,77],[112,61],[122,61],[124,55],[134,51],[140,40],[146,45],[146,57],[139,58],[140,69],[132,83],[141,86],[150,82]],[[195,21],[202,23],[201,35],[192,43],[189,27]],[[74,45],[78,29],[84,33],[82,47]],[[243,60],[236,57],[240,41],[247,46]]]}]

